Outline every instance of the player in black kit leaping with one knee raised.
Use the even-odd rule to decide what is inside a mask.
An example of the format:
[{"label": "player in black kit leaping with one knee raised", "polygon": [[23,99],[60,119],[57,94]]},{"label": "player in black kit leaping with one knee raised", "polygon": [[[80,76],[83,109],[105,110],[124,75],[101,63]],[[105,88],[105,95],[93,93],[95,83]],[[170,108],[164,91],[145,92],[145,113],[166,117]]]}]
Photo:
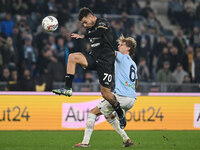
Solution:
[{"label": "player in black kit leaping with one knee raised", "polygon": [[55,89],[53,92],[59,95],[72,96],[72,81],[76,64],[80,64],[82,67],[90,70],[96,70],[101,84],[101,94],[117,112],[120,127],[123,129],[126,126],[125,114],[116,97],[111,93],[115,52],[111,44],[113,43],[113,34],[110,24],[103,18],[97,18],[86,7],[80,9],[79,21],[86,28],[86,33],[84,35],[72,33],[71,36],[76,39],[88,38],[91,44],[91,51],[89,54],[78,52],[69,55],[65,88]]}]

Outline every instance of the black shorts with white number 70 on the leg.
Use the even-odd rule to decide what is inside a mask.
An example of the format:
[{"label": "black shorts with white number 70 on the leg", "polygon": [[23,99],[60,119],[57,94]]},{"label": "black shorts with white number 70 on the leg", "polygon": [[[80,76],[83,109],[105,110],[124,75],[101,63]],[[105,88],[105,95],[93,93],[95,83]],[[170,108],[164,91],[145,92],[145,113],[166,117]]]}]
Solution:
[{"label": "black shorts with white number 70 on the leg", "polygon": [[108,55],[107,58],[95,58],[93,55],[87,53],[83,53],[83,55],[88,62],[87,69],[96,70],[100,84],[104,87],[111,88],[115,55]]}]

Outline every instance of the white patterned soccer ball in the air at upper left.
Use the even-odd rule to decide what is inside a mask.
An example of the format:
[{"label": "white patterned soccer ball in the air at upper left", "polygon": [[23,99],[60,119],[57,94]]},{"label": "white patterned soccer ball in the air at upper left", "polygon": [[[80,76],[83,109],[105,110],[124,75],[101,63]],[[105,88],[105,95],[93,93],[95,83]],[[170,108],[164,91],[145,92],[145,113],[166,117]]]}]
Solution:
[{"label": "white patterned soccer ball in the air at upper left", "polygon": [[48,32],[53,32],[58,28],[58,20],[54,16],[47,16],[42,20],[42,27]]}]

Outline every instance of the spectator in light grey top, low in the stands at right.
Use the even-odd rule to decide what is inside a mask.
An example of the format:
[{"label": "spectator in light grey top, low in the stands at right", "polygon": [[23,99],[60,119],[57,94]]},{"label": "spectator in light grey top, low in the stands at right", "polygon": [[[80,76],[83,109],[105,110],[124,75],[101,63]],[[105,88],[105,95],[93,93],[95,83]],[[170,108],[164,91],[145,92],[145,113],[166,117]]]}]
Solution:
[{"label": "spectator in light grey top, low in the stands at right", "polygon": [[186,75],[188,75],[188,73],[185,70],[183,70],[182,64],[180,62],[178,62],[176,70],[174,70],[172,75],[175,79],[175,82],[178,83],[178,84],[181,84],[184,81],[184,77]]}]

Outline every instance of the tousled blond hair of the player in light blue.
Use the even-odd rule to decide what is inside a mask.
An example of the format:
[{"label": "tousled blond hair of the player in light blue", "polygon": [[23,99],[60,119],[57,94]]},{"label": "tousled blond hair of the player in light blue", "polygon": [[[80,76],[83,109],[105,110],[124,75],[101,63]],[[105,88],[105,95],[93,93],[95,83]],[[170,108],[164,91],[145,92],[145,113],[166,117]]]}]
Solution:
[{"label": "tousled blond hair of the player in light blue", "polygon": [[129,55],[131,57],[133,57],[133,55],[135,54],[135,50],[136,50],[136,46],[137,46],[137,42],[134,38],[132,37],[127,37],[125,38],[124,35],[121,35],[119,37],[119,39],[117,40],[118,43],[126,43],[126,46],[127,47],[130,47],[130,50],[129,50]]}]

